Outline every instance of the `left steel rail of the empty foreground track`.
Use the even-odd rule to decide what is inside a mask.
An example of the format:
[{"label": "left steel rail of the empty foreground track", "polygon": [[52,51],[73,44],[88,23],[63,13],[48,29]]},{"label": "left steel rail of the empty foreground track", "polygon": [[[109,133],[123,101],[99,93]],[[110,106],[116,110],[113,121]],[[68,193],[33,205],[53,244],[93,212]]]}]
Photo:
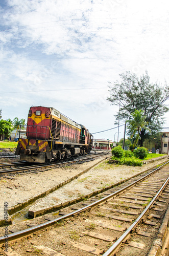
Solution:
[{"label": "left steel rail of the empty foreground track", "polygon": [[[152,174],[154,174],[155,172],[157,172],[160,168],[162,168],[162,167],[163,167],[164,165],[166,165],[167,163],[169,163],[169,161],[167,161],[166,163],[164,163],[164,164],[161,165],[160,167],[158,167],[158,168],[156,168],[155,170],[153,170],[152,173],[150,173],[150,174],[148,174],[148,175],[146,175],[146,176],[140,178],[139,180],[137,180],[137,181],[135,181],[135,182],[133,182],[133,183],[127,185],[127,186],[124,187],[124,188],[121,188],[121,189],[115,191],[114,193],[112,193],[112,194],[110,194],[110,195],[108,195],[108,196],[106,196],[106,197],[104,197],[104,198],[102,198],[102,199],[100,199],[100,200],[98,200],[98,201],[96,201],[96,202],[93,202],[93,203],[91,203],[91,204],[89,204],[89,205],[86,205],[86,206],[82,207],[81,209],[72,211],[72,212],[70,212],[69,214],[66,214],[66,215],[64,215],[64,216],[61,216],[61,217],[59,217],[59,218],[56,218],[56,219],[54,219],[54,220],[52,220],[52,221],[47,221],[47,222],[42,223],[42,224],[39,224],[39,225],[37,225],[37,226],[35,226],[35,227],[30,227],[30,228],[24,229],[24,230],[22,230],[22,231],[18,231],[18,232],[15,232],[15,233],[8,234],[8,238],[7,238],[7,239],[8,239],[8,241],[17,240],[18,238],[28,236],[30,233],[36,232],[36,231],[38,231],[38,230],[40,230],[40,229],[43,229],[44,227],[51,226],[51,225],[55,224],[55,222],[57,222],[57,221],[59,221],[59,220],[64,220],[64,219],[70,218],[70,217],[72,217],[72,216],[74,216],[74,215],[80,214],[80,212],[83,212],[83,211],[85,211],[85,210],[89,210],[90,208],[92,208],[92,207],[94,207],[94,206],[96,206],[96,205],[98,205],[98,204],[100,204],[100,203],[102,203],[102,202],[104,202],[104,201],[110,199],[111,197],[114,197],[114,196],[116,196],[116,195],[122,193],[122,192],[123,192],[124,190],[126,190],[127,188],[130,188],[130,187],[132,187],[133,185],[135,185],[136,183],[138,183],[138,182],[142,181],[143,179],[145,179],[145,178],[151,176]],[[167,178],[167,180],[168,180],[168,179],[169,179],[169,178]],[[167,181],[167,180],[166,180],[166,181]],[[165,181],[165,183],[166,183],[166,181]],[[161,191],[161,190],[162,190],[162,189],[160,188],[159,191]],[[149,205],[150,205],[150,204],[149,204]],[[144,211],[143,211],[143,212],[144,212]],[[142,215],[142,214],[141,214],[141,215]],[[138,219],[138,218],[137,218],[137,219]],[[135,223],[135,222],[134,222],[134,223]],[[125,233],[126,233],[126,232],[125,232]],[[5,237],[0,237],[0,245],[3,244],[3,243],[5,243],[5,240],[6,240]],[[117,240],[117,241],[118,241],[118,240]],[[108,255],[109,255],[109,254],[108,254]],[[110,254],[110,255],[111,255],[111,254]],[[104,256],[106,256],[106,254],[105,254]]]}]

